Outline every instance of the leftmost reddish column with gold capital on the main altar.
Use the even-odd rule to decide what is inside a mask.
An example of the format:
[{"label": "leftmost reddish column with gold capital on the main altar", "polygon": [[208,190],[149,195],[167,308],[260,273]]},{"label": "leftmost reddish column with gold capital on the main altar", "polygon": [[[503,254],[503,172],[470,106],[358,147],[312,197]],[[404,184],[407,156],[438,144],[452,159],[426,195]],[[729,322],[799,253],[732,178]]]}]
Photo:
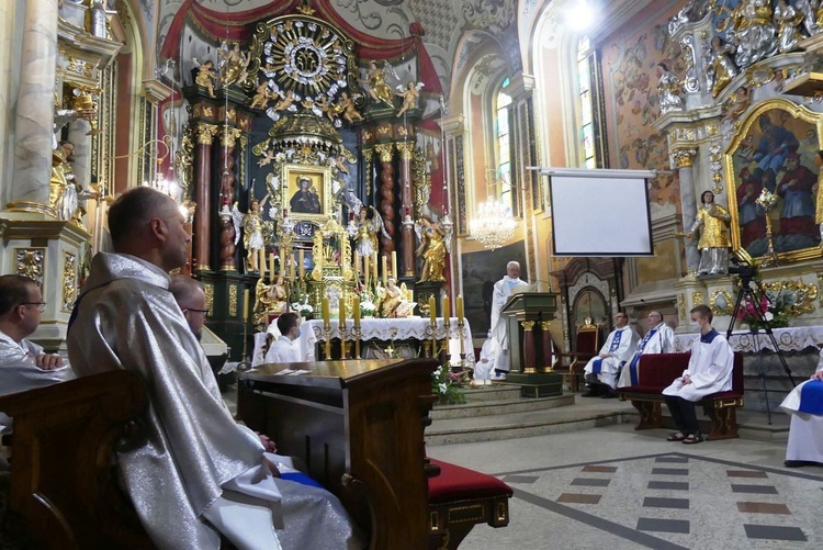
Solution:
[{"label": "leftmost reddish column with gold capital on the main altar", "polygon": [[211,269],[208,254],[208,239],[211,232],[208,220],[212,215],[212,143],[217,135],[217,126],[214,124],[198,124],[198,149],[196,149],[196,189],[198,212],[194,215],[194,262],[196,270]]}]

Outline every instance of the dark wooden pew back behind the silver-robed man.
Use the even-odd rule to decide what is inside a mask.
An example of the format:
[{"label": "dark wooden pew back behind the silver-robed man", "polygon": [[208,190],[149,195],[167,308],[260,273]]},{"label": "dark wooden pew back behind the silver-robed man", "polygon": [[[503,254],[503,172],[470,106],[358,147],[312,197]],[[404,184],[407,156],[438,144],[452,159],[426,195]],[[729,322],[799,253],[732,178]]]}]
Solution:
[{"label": "dark wooden pew back behind the silver-robed man", "polygon": [[22,548],[154,548],[117,483],[117,448],[140,445],[147,404],[125,371],[0,397],[14,418],[8,536]]}]

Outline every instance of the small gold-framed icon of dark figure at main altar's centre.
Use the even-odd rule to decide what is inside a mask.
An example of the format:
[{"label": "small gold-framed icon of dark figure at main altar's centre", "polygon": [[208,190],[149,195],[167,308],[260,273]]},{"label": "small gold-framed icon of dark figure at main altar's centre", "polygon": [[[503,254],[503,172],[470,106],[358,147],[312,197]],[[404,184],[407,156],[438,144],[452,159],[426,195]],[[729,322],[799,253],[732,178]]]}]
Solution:
[{"label": "small gold-framed icon of dark figure at main altar's centre", "polygon": [[331,214],[331,171],[327,166],[284,165],[281,182],[281,207],[292,220],[320,223]]}]

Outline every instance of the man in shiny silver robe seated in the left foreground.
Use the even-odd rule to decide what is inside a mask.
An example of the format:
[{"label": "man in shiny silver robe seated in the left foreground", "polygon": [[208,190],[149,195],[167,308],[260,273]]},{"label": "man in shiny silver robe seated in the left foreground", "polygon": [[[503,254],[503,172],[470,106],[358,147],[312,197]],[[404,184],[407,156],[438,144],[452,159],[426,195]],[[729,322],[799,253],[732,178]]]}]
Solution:
[{"label": "man in shiny silver robe seated in the left foreground", "polygon": [[250,429],[235,423],[205,353],[169,292],[168,271],[187,261],[191,236],[177,203],[148,187],[109,211],[114,254],[100,252],[69,323],[79,375],[137,374],[148,407],[146,442],[117,454],[140,521],[160,549],[354,549],[340,502],[280,480]]}]

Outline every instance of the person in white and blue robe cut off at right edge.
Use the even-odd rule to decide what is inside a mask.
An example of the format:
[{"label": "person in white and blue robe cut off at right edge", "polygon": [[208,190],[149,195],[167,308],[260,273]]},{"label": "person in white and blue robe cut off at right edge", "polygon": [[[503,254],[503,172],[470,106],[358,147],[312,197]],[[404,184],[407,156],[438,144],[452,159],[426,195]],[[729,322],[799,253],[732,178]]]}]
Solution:
[{"label": "person in white and blue robe cut off at right edge", "polygon": [[823,350],[814,374],[789,392],[780,408],[791,414],[785,464],[823,465]]}]

